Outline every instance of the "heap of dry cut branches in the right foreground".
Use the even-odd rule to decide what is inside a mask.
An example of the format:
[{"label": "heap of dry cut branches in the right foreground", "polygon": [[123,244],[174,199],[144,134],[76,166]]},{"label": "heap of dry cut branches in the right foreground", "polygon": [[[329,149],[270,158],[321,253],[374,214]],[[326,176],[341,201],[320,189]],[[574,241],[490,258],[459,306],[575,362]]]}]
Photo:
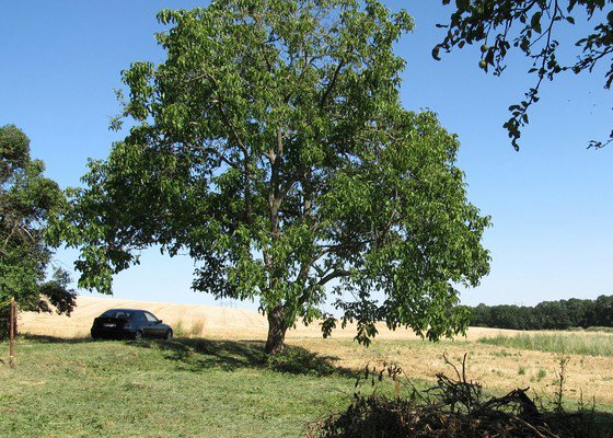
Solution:
[{"label": "heap of dry cut branches in the right foreground", "polygon": [[[446,358],[447,360],[447,358]],[[562,410],[539,408],[525,389],[504,396],[487,396],[478,382],[466,379],[466,356],[455,376],[437,374],[437,383],[400,396],[402,369],[367,366],[361,380],[375,388],[384,378],[394,383],[395,396],[377,393],[354,394],[347,411],[331,415],[309,427],[309,438],[404,438],[404,437],[478,437],[478,438],[575,438],[595,437],[586,420],[589,411],[566,414]],[[356,383],[358,385],[358,382]]]}]

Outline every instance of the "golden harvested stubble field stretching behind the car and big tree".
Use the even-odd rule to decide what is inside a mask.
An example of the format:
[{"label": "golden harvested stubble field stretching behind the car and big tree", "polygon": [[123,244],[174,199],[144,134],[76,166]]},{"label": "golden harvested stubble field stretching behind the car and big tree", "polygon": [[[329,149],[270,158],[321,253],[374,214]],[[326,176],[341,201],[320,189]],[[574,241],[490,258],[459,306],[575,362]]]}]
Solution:
[{"label": "golden harvested stubble field stretching behind the car and big tree", "polygon": [[[89,335],[92,320],[112,308],[140,308],[153,312],[175,328],[176,336],[211,339],[264,341],[266,319],[251,310],[227,309],[210,306],[172,304],[120,300],[112,298],[79,297],[71,318],[56,314],[23,312],[20,315],[22,332],[56,337],[83,337]],[[317,324],[298,325],[290,330],[287,342],[329,358],[334,365],[359,369],[367,362],[388,361],[403,367],[409,378],[433,379],[436,372],[449,371],[443,355],[455,364],[467,355],[467,376],[493,390],[531,387],[535,393],[551,395],[558,380],[560,359],[568,357],[566,390],[569,399],[595,401],[613,405],[613,356],[609,350],[594,355],[568,353],[569,350],[541,351],[490,345],[484,337],[513,337],[520,333],[508,330],[469,330],[465,337],[455,341],[429,343],[413,332],[391,332],[380,326],[379,336],[366,348],[352,341],[355,330],[337,330],[323,339]],[[529,332],[527,332],[529,333]],[[536,333],[536,332],[532,332]],[[555,332],[552,336],[569,339],[598,341],[613,345],[613,334],[592,332]],[[539,332],[539,336],[547,333]]]}]

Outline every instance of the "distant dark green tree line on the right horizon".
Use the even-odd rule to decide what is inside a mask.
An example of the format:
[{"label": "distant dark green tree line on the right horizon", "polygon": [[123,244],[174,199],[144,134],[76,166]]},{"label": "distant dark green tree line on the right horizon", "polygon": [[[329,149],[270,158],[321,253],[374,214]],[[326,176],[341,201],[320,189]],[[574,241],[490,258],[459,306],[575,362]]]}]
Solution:
[{"label": "distant dark green tree line on the right horizon", "polygon": [[535,307],[486,306],[473,308],[471,325],[514,330],[565,330],[613,326],[613,296],[595,300],[543,301]]}]

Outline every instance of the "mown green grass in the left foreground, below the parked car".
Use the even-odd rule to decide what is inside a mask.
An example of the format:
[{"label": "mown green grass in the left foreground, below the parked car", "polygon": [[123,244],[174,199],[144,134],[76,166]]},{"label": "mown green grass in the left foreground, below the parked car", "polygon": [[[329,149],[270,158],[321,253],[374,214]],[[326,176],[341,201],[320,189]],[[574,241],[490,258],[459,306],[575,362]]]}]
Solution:
[{"label": "mown green grass in the left foreground, below the parked car", "polygon": [[292,348],[271,362],[261,351],[203,339],[21,338],[18,368],[0,364],[0,437],[300,437],[349,404],[355,378],[329,359]]}]

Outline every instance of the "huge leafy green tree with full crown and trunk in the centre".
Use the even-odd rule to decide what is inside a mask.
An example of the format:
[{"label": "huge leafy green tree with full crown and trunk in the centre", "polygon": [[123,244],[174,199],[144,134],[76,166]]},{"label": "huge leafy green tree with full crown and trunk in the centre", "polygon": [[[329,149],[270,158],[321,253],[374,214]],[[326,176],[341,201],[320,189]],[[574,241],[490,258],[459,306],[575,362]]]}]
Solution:
[{"label": "huge leafy green tree with full crown and trunk in the centre", "polygon": [[132,127],[57,228],[81,247],[80,285],[109,292],[157,244],[196,261],[194,289],[258,300],[268,353],[299,318],[328,334],[332,299],[360,342],[377,321],[463,331],[456,287],[488,272],[488,218],[466,199],[456,138],[400,103],[406,12],[219,0],[158,19],[167,58],[123,73]]}]

